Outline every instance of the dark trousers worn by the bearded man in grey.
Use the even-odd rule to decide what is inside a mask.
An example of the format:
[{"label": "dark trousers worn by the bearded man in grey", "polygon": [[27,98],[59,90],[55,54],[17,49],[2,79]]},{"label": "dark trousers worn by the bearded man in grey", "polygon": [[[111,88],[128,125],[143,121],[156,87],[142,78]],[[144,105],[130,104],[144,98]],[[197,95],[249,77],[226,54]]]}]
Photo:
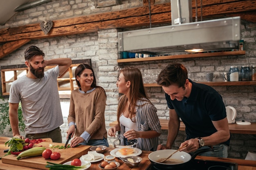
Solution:
[{"label": "dark trousers worn by the bearded man in grey", "polygon": [[58,127],[52,131],[44,133],[26,134],[29,139],[51,138],[52,142],[62,143],[61,128]]}]

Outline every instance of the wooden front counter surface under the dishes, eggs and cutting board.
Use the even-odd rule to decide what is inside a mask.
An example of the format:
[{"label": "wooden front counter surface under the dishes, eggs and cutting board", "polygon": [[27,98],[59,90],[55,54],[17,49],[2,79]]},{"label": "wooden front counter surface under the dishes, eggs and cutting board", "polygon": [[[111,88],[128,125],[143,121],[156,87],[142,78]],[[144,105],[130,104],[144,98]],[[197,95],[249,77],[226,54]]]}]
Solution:
[{"label": "wooden front counter surface under the dishes, eggs and cutting board", "polygon": [[[3,150],[7,149],[7,146],[4,146],[4,142],[8,141],[10,138],[8,137],[0,137],[0,157],[2,157],[4,155]],[[43,145],[43,142],[40,143]],[[49,144],[49,142],[45,142],[45,144]],[[56,144],[56,143],[55,143]],[[60,146],[64,145],[62,143],[57,143]],[[78,146],[79,150],[81,150],[82,152],[88,152],[89,147],[88,146]],[[77,148],[78,148],[77,147]],[[75,149],[75,148],[68,148],[70,151],[71,149]],[[110,151],[113,150],[115,148],[107,148],[106,152],[104,152],[104,155],[110,155]],[[53,150],[53,148],[51,149]],[[68,152],[70,152],[68,151]],[[72,151],[71,151],[72,152]],[[135,168],[129,168],[128,166],[126,166],[120,159],[115,159],[115,161],[118,161],[120,163],[120,166],[117,170],[146,170],[149,166],[150,166],[150,161],[148,160],[148,154],[150,153],[150,151],[142,151],[142,154],[139,155],[143,160],[141,161],[141,163],[139,164],[138,167]],[[74,155],[74,157],[76,157]],[[78,156],[77,158],[79,158],[80,156]],[[34,157],[34,159],[38,159],[38,162],[40,160],[45,161],[46,164],[46,160],[43,159],[43,157]],[[26,159],[26,158],[25,158]],[[72,160],[73,158],[71,158]],[[224,158],[217,158],[217,157],[203,157],[203,156],[197,156],[195,159],[204,159],[204,160],[213,160],[213,161],[225,161],[225,162],[236,162],[238,163],[238,170],[256,170],[256,161],[248,161],[248,160],[242,160],[242,159],[224,159]],[[19,161],[21,161],[22,159],[20,159]],[[51,162],[54,162],[52,160],[48,160]],[[102,160],[103,161],[103,160]],[[100,170],[100,168],[98,167],[99,163],[101,163],[101,161],[99,162],[95,162],[92,163],[92,166],[89,168],[90,170]],[[17,169],[22,169],[22,170],[34,170],[36,168],[30,168],[30,167],[25,167],[25,166],[19,166],[19,165],[13,165],[13,164],[9,164],[9,163],[2,163],[2,161],[0,161],[0,170],[17,170]]]}]

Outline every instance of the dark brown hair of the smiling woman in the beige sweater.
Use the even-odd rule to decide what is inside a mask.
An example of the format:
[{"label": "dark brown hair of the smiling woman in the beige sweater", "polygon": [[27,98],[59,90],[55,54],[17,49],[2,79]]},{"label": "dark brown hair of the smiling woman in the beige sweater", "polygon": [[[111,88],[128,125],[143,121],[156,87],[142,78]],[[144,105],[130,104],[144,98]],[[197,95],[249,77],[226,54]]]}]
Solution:
[{"label": "dark brown hair of the smiling woman in the beige sweater", "polygon": [[[94,71],[93,71],[92,67],[89,66],[88,64],[80,64],[79,66],[77,66],[77,67],[76,67],[76,70],[75,70],[75,77],[76,77],[76,76],[80,77],[81,74],[83,73],[83,71],[84,71],[86,68],[87,68],[87,69],[90,69],[90,70],[92,71],[92,74],[93,74],[93,82],[92,82],[91,87],[92,87],[92,88],[101,88],[101,89],[104,91],[105,96],[107,97],[105,90],[104,90],[101,86],[97,86],[97,85],[96,85],[96,78],[95,78],[95,75],[94,75]],[[76,79],[76,84],[77,84],[77,86],[79,87],[79,89],[81,90],[81,84],[79,83],[79,81],[78,81],[77,79]]]}]

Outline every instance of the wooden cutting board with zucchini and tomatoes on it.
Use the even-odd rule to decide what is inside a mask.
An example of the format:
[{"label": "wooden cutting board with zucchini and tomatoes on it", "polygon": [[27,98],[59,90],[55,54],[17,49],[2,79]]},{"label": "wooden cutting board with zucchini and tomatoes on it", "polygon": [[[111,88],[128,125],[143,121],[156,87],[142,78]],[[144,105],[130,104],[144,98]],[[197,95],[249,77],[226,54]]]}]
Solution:
[{"label": "wooden cutting board with zucchini and tomatoes on it", "polygon": [[53,163],[65,163],[67,161],[72,161],[75,158],[80,158],[82,155],[87,154],[89,148],[91,146],[76,146],[74,148],[66,148],[66,149],[58,149],[58,148],[49,148],[49,144],[53,144],[54,146],[64,146],[65,144],[62,143],[54,143],[49,141],[44,141],[39,144],[36,144],[36,146],[43,146],[47,149],[52,150],[52,152],[59,152],[61,154],[61,158],[58,160],[51,160],[51,159],[44,159],[42,156],[37,157],[27,157],[17,160],[16,155],[7,155],[5,157],[2,157],[2,163],[9,163],[13,165],[19,165],[19,166],[26,166],[30,168],[39,168],[39,169],[45,169],[49,170],[49,168],[45,168],[45,165],[47,165],[47,161],[53,162]]}]

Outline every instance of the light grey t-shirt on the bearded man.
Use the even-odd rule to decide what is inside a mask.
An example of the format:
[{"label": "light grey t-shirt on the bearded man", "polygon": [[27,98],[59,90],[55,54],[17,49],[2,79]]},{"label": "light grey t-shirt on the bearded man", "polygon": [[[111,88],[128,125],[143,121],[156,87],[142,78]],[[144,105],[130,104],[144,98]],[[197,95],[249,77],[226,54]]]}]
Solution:
[{"label": "light grey t-shirt on the bearded man", "polygon": [[26,75],[13,81],[9,103],[21,102],[27,134],[49,132],[63,124],[58,94],[58,66],[45,72],[42,79]]}]

